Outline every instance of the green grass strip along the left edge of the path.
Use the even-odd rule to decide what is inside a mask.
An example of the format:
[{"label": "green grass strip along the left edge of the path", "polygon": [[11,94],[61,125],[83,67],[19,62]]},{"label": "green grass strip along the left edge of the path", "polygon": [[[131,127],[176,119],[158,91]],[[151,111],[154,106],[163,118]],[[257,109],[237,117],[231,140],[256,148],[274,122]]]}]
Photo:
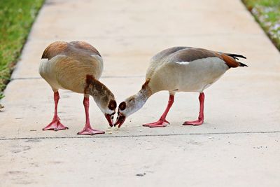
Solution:
[{"label": "green grass strip along the left edge of the path", "polygon": [[0,0],[0,99],[44,0]]}]

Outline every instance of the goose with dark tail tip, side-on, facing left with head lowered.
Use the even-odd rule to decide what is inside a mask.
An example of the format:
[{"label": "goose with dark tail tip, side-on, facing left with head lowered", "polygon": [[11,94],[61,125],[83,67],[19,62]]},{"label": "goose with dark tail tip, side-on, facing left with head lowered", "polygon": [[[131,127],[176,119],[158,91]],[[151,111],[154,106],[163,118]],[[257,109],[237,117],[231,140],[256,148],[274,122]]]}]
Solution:
[{"label": "goose with dark tail tip, side-on, facing left with head lowered", "polygon": [[165,127],[165,119],[174,102],[176,92],[200,92],[200,114],[197,120],[186,121],[183,125],[201,125],[204,121],[204,89],[216,82],[231,67],[246,67],[237,62],[242,55],[220,53],[202,48],[174,47],[163,50],[151,59],[146,73],[146,82],[136,95],[132,95],[118,106],[115,126],[120,127],[125,118],[141,109],[147,99],[155,92],[169,91],[167,109],[155,123],[145,127]]}]

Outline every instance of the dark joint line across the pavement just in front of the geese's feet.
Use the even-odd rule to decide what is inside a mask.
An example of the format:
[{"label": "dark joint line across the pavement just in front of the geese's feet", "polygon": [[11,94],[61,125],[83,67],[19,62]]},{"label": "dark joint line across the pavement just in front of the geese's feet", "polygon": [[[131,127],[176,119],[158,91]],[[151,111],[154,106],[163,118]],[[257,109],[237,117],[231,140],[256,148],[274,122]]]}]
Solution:
[{"label": "dark joint line across the pavement just in front of the geese's feet", "polygon": [[255,132],[209,132],[209,133],[181,133],[181,134],[139,134],[139,135],[120,135],[120,136],[87,136],[87,137],[22,137],[22,138],[1,138],[0,141],[7,140],[28,140],[28,139],[94,139],[94,138],[130,138],[130,137],[173,137],[186,135],[220,135],[220,134],[272,134],[280,133],[276,131],[255,131]]}]

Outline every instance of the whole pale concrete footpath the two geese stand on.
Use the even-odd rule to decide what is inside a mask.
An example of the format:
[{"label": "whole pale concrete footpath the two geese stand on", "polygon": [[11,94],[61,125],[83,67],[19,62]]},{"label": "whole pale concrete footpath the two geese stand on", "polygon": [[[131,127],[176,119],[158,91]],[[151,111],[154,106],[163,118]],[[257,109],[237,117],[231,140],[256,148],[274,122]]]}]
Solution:
[{"label": "whole pale concrete footpath the two geese stand on", "polygon": [[[42,131],[52,90],[38,74],[52,41],[82,40],[104,58],[101,81],[120,103],[144,83],[149,59],[171,46],[245,55],[205,91],[205,123],[181,125],[199,111],[197,93],[148,100],[119,129],[90,99],[97,136],[78,136],[83,95],[61,91],[59,117],[69,130]],[[0,112],[0,186],[279,186],[280,54],[241,1],[47,0],[31,30]]]}]

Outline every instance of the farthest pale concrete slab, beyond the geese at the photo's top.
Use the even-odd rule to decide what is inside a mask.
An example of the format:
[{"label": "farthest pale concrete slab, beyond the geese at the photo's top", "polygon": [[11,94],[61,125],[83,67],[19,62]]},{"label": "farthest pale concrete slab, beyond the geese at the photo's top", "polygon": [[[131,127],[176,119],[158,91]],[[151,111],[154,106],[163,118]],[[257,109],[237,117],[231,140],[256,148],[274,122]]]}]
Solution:
[{"label": "farthest pale concrete slab, beyond the geese at the photo's top", "polygon": [[[36,39],[54,37],[116,36],[186,36],[209,34],[260,34],[257,25],[248,25],[253,18],[239,2],[218,0],[200,1],[48,1],[43,7],[39,22],[47,24],[34,27]],[[86,4],[86,6],[85,6]],[[63,8],[57,9],[57,7]],[[237,8],[233,10],[232,8]],[[239,10],[239,11],[236,11]],[[71,15],[69,15],[71,12]],[[226,17],[223,15],[226,14]],[[71,19],[69,19],[71,16]],[[223,18],[223,19],[221,19]],[[195,19],[195,21],[194,21]],[[238,21],[237,21],[238,20]],[[202,24],[203,23],[203,24]],[[80,27],[76,27],[76,25]],[[218,29],[217,29],[218,28]],[[51,30],[51,34],[50,34]]]}]

